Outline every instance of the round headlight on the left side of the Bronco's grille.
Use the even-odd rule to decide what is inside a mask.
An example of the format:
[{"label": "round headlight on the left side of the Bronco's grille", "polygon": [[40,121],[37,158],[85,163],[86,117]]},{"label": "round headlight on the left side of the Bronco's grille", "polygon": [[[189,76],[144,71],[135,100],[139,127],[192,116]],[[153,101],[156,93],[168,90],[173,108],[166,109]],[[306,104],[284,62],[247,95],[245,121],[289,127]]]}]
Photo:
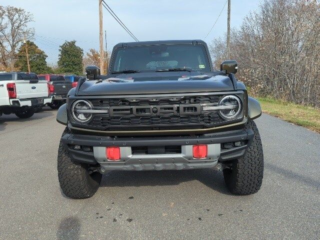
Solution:
[{"label": "round headlight on the left side of the Bronco's grille", "polygon": [[91,102],[86,100],[76,100],[72,103],[71,115],[77,122],[84,123],[92,118],[92,113],[90,113],[90,109],[92,108],[93,106]]}]

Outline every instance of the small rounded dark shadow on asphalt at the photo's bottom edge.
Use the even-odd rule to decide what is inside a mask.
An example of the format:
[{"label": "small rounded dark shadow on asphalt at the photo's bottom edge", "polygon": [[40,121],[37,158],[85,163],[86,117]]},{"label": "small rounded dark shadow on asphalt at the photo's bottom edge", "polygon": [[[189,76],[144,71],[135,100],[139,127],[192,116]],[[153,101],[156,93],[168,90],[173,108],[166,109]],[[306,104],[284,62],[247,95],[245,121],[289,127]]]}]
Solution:
[{"label": "small rounded dark shadow on asphalt at the photo's bottom edge", "polygon": [[81,223],[78,217],[68,216],[64,217],[56,231],[56,237],[59,240],[65,239],[79,239]]}]

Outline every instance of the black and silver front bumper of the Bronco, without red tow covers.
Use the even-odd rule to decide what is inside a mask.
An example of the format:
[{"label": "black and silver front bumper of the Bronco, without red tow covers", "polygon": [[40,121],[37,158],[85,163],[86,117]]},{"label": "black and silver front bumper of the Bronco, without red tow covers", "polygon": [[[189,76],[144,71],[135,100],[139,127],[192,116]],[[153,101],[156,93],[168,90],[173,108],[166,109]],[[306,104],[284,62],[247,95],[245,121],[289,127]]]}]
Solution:
[{"label": "black and silver front bumper of the Bronco, without red tow covers", "polygon": [[[163,170],[193,169],[213,167],[218,161],[227,161],[241,157],[251,144],[253,131],[232,130],[227,132],[203,134],[198,136],[157,136],[157,137],[109,137],[80,134],[65,134],[62,142],[73,161],[92,165],[99,164],[110,170]],[[221,143],[241,141],[237,147],[222,148]],[[195,159],[192,145],[207,144],[206,158]],[[89,146],[89,151],[75,150],[74,145]],[[171,154],[134,154],[132,147],[138,146],[181,146],[180,153]],[[108,160],[105,147],[119,146],[119,161]],[[83,148],[82,148],[83,149]]]}]

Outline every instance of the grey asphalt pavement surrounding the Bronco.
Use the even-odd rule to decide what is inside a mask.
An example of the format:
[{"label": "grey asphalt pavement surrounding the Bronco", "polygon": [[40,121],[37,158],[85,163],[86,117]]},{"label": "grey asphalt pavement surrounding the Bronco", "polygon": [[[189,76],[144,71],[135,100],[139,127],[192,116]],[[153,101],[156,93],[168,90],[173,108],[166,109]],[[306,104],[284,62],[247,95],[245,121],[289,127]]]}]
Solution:
[{"label": "grey asphalt pavement surrounding the Bronco", "polygon": [[110,171],[88,199],[60,191],[56,111],[0,117],[0,239],[320,239],[320,134],[263,114],[260,191],[221,172]]}]

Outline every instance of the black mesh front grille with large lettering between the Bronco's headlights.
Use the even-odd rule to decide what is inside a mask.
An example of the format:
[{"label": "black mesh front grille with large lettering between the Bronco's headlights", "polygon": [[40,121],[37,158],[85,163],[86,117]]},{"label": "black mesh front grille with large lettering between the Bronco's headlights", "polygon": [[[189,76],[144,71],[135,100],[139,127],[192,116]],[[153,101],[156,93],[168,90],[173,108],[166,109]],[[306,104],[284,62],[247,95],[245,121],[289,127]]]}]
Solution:
[{"label": "black mesh front grille with large lettering between the Bronco's headlights", "polygon": [[201,104],[218,104],[222,94],[88,99],[95,113],[87,126],[109,131],[202,129],[226,124],[218,111],[203,111]]}]

